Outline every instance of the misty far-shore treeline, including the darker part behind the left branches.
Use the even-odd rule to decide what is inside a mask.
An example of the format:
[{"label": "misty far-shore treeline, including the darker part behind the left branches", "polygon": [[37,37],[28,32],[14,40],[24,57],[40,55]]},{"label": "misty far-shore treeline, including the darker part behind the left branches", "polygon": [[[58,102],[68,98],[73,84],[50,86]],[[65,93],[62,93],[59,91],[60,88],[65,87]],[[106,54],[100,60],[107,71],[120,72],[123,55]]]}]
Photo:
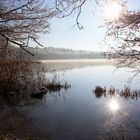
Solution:
[{"label": "misty far-shore treeline, including the darker part behind the left branches", "polygon": [[[53,60],[53,59],[104,59],[105,55],[103,52],[95,52],[95,51],[84,51],[84,50],[73,50],[73,49],[66,49],[66,48],[55,48],[55,47],[29,47],[26,48],[29,52],[32,54],[35,54],[34,56],[31,56],[26,51],[22,50],[18,47],[12,47],[11,54],[13,54],[17,58],[25,57],[28,58],[34,58],[39,60]],[[8,50],[7,50],[8,51]],[[11,55],[9,54],[9,55]],[[8,55],[8,56],[9,56]],[[3,58],[2,55],[0,55],[0,58]]]}]

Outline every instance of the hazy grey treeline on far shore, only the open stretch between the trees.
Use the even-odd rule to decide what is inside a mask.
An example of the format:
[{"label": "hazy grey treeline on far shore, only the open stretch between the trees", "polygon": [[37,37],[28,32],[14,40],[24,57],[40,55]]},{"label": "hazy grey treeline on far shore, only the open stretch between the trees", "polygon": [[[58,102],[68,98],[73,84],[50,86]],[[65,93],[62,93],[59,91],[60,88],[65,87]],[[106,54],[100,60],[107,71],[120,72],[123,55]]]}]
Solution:
[{"label": "hazy grey treeline on far shore, only the open stretch between the trees", "polygon": [[104,59],[103,52],[73,50],[66,48],[44,47],[30,48],[36,59]]}]

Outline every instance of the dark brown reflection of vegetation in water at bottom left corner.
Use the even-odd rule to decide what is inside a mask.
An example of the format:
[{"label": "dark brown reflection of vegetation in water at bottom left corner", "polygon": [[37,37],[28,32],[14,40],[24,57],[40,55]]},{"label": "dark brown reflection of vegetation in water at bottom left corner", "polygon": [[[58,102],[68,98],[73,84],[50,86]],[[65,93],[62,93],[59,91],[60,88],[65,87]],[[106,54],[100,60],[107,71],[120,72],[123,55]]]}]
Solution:
[{"label": "dark brown reflection of vegetation in water at bottom left corner", "polygon": [[[25,101],[26,102],[26,101]],[[24,105],[20,104],[7,104],[3,109],[0,110],[0,139],[2,137],[11,138],[18,137],[21,139],[50,139],[47,134],[45,137],[37,135],[34,131],[34,122],[39,121],[40,118],[37,116],[30,116],[32,112],[39,105],[40,108],[44,104],[40,100],[30,100]],[[46,106],[45,106],[46,107]],[[46,132],[47,133],[47,132]]]}]

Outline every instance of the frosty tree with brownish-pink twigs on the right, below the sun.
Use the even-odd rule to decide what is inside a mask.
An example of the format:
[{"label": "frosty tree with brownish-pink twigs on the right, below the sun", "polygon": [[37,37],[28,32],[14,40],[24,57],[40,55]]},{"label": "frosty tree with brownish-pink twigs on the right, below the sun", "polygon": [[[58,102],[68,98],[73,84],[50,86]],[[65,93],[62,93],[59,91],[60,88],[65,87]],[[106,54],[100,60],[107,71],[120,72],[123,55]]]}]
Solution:
[{"label": "frosty tree with brownish-pink twigs on the right, below the sun", "polygon": [[109,37],[116,42],[108,56],[118,60],[119,67],[138,64],[140,60],[140,11],[130,11],[126,2],[121,6],[123,12],[119,18],[105,24],[107,39]]}]

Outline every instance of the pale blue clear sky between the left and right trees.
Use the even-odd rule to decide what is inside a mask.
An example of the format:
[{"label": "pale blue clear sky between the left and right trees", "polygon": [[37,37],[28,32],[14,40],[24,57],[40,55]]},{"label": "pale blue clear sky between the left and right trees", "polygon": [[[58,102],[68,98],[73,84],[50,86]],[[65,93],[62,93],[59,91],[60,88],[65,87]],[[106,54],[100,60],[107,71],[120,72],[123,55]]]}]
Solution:
[{"label": "pale blue clear sky between the left and right trees", "polygon": [[[129,0],[129,9],[138,9],[140,0]],[[79,30],[75,15],[66,18],[54,18],[50,21],[50,33],[41,36],[40,42],[46,46],[72,48],[76,50],[104,51],[107,46],[102,44],[105,38],[103,13],[90,0],[84,5],[79,17],[84,29]]]}]

